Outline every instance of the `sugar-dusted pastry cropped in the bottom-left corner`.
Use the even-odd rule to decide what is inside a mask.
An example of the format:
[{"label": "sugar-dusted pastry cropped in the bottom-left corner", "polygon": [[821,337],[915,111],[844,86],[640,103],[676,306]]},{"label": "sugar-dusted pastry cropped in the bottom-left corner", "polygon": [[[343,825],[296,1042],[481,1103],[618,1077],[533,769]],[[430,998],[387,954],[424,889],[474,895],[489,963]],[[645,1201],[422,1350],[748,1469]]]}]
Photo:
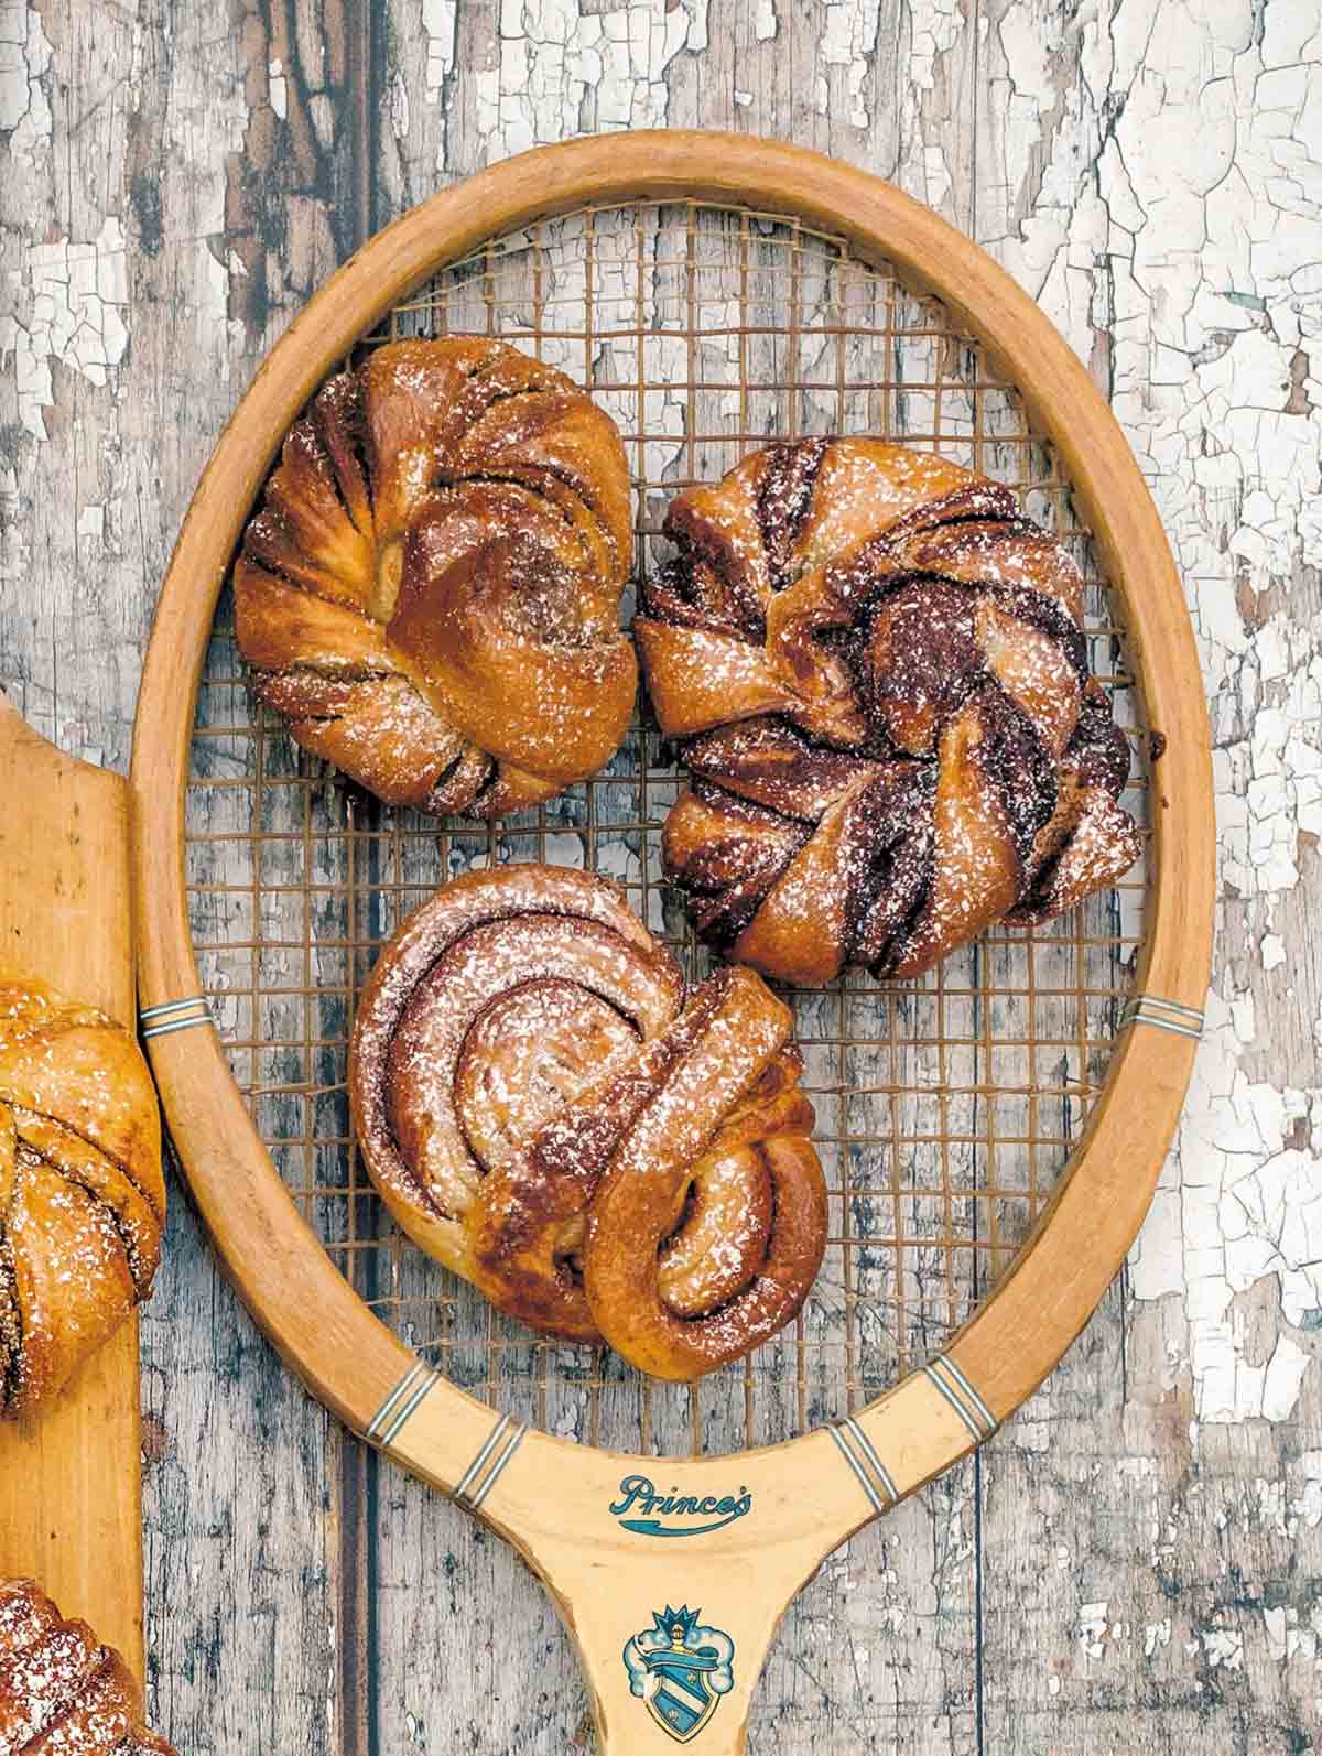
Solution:
[{"label": "sugar-dusted pastry cropped in the bottom-left corner", "polygon": [[139,1717],[128,1666],[30,1579],[0,1582],[2,1756],[174,1756]]}]

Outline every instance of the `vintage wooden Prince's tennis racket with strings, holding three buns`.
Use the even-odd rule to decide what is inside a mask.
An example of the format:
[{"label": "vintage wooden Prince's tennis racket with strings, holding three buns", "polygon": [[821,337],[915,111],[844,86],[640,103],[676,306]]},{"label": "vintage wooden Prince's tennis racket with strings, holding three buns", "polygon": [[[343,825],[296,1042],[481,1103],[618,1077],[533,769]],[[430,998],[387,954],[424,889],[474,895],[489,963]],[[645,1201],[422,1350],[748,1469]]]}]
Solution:
[{"label": "vintage wooden Prince's tennis racket with strings, holding three buns", "polygon": [[[356,349],[444,332],[504,335],[614,414],[644,567],[674,492],[778,435],[869,432],[1009,483],[1085,565],[1092,664],[1134,739],[1138,874],[918,983],[790,996],[827,1261],[792,1329],[695,1385],[497,1317],[392,1229],[353,1150],[355,994],[456,871],[586,864],[702,968],[660,885],[678,776],[646,725],[525,818],[437,825],[355,794],[253,708],[225,583],[284,432]],[[1183,1101],[1211,938],[1208,727],[1182,587],[1104,400],[1006,274],[864,172],[679,132],[514,158],[376,237],[258,372],[165,581],[133,787],[142,1027],[253,1315],[342,1421],[541,1575],[604,1747],[743,1749],[790,1596],[1055,1366]]]}]

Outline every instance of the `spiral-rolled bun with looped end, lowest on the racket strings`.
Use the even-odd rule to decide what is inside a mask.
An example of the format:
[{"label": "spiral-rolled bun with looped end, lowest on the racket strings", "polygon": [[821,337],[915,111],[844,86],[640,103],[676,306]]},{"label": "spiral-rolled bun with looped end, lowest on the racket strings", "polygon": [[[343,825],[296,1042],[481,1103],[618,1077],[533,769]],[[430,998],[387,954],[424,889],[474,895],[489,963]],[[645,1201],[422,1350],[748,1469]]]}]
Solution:
[{"label": "spiral-rolled bun with looped end, lowest on the racket strings", "polygon": [[425,1250],[535,1329],[692,1378],[783,1328],[822,1263],[799,1073],[751,971],[686,996],[613,885],[507,866],[446,885],[386,946],[349,1094]]}]

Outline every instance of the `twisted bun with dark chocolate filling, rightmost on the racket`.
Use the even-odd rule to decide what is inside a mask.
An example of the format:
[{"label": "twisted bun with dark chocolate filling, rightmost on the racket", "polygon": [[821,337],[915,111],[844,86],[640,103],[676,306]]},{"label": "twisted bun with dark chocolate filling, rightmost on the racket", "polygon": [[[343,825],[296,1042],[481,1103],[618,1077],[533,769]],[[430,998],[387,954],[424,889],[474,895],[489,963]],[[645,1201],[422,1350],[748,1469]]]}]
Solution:
[{"label": "twisted bun with dark chocolate filling, rightmost on the racket", "polygon": [[913,976],[1134,862],[1080,571],[1008,488],[804,439],[679,495],[665,534],[634,623],[693,778],[665,869],[732,959]]}]

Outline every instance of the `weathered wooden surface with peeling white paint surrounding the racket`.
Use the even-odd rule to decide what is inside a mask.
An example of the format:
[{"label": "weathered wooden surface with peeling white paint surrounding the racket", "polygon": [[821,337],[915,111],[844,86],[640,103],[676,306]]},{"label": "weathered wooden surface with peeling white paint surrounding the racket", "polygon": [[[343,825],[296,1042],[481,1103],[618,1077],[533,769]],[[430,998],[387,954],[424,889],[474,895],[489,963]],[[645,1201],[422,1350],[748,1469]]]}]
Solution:
[{"label": "weathered wooden surface with peeling white paint surrounding the racket", "polygon": [[[0,7],[0,681],[72,752],[125,766],[197,471],[265,339],[348,248],[335,225],[365,170],[379,225],[579,128],[736,126],[830,149],[999,255],[1110,392],[1153,485],[1199,627],[1222,820],[1213,1027],[1182,1150],[1129,1275],[1046,1391],[799,1600],[753,1751],[1317,1744],[1322,1296],[1285,1226],[1310,1212],[1322,1103],[1311,11],[395,0],[358,63],[367,151],[353,105],[328,97],[314,5],[291,12],[298,56],[274,76],[256,11]],[[295,61],[346,167],[334,190],[288,181],[277,81]],[[95,148],[61,148],[54,118]],[[255,126],[276,149],[253,179],[260,220],[235,235],[265,239],[265,306],[228,249],[226,188]],[[72,309],[68,246],[98,246],[107,220],[132,244],[128,339],[111,325],[97,383],[65,339],[77,325],[42,330],[35,306],[46,288]],[[105,239],[93,260],[111,263]],[[167,1730],[226,1756],[585,1747],[586,1698],[541,1587],[400,1472],[342,1456],[216,1282],[183,1199],[170,1231],[144,1331]],[[346,1528],[362,1533],[351,1577]],[[335,1689],[342,1605],[377,1652],[353,1691]],[[499,1661],[513,1630],[521,1668]]]}]

